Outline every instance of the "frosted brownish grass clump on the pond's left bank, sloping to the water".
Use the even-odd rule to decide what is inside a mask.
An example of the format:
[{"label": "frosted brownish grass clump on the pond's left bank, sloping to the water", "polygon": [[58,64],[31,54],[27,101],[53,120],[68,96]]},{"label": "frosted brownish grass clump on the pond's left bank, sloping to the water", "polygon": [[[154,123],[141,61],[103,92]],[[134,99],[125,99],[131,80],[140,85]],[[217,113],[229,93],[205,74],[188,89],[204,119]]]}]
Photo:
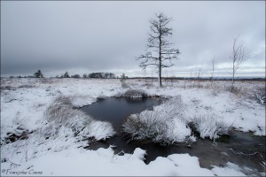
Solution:
[{"label": "frosted brownish grass clump on the pond's left bank, sloping to the water", "polygon": [[[105,139],[114,134],[111,123],[97,121],[81,110],[74,109],[69,96],[58,96],[44,112],[45,125],[40,132],[46,137],[58,137],[72,131],[75,136]],[[65,135],[63,133],[62,135]]]}]

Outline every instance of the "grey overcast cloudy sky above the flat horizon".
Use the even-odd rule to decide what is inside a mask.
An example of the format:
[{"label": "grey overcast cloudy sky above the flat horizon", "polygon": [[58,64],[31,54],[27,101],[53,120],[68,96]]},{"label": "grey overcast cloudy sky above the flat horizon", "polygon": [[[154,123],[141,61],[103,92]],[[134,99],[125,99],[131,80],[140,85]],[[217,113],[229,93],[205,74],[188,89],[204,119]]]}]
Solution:
[{"label": "grey overcast cloudy sky above the flat horizon", "polygon": [[265,76],[265,1],[2,1],[1,75],[44,76],[112,72],[155,75],[138,67],[145,53],[149,19],[173,18],[169,40],[180,50],[165,75],[230,76],[233,38],[240,35],[250,58],[239,76]]}]

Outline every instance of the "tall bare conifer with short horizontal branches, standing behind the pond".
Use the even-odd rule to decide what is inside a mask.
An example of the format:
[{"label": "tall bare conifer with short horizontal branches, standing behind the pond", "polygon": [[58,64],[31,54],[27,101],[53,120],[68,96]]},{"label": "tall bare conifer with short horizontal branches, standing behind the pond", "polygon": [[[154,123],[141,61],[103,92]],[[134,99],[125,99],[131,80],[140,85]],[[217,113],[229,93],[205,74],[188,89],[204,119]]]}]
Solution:
[{"label": "tall bare conifer with short horizontal branches, standing behind the pond", "polygon": [[155,19],[150,20],[150,34],[148,38],[147,51],[144,55],[140,55],[137,60],[141,59],[140,67],[144,70],[149,65],[155,65],[159,73],[159,82],[161,87],[161,71],[162,68],[174,65],[171,61],[177,59],[178,49],[171,48],[173,43],[168,42],[168,35],[172,35],[173,29],[168,27],[171,21],[163,13],[155,14]]}]

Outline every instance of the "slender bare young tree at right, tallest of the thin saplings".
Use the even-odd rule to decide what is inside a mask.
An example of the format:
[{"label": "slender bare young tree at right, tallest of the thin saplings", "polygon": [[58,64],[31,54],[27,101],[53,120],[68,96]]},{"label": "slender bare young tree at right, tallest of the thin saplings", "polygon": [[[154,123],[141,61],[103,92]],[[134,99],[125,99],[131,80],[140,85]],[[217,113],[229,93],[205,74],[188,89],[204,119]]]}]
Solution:
[{"label": "slender bare young tree at right, tallest of the thin saplings", "polygon": [[249,51],[246,50],[244,42],[239,42],[239,36],[234,38],[233,49],[232,49],[232,81],[231,89],[234,89],[235,74],[239,70],[240,65],[249,58]]}]

